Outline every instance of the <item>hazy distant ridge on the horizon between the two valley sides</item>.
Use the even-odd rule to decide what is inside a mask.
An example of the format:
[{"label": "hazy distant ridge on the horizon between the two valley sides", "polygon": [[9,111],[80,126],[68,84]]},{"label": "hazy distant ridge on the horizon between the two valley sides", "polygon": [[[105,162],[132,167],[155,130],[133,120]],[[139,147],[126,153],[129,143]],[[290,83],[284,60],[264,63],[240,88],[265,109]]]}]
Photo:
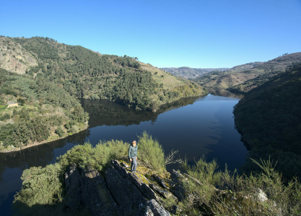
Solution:
[{"label": "hazy distant ridge on the horizon between the two valley sides", "polygon": [[185,79],[194,79],[213,70],[228,70],[229,68],[163,67],[160,69]]}]

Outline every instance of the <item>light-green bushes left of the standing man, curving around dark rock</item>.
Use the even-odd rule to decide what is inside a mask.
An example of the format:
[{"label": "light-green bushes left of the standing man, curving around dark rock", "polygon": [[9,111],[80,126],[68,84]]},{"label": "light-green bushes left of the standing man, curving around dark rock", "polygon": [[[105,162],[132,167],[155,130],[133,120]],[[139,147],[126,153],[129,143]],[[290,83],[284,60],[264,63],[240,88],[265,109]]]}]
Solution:
[{"label": "light-green bushes left of the standing man, curving around dark rock", "polygon": [[129,143],[119,140],[100,142],[95,147],[85,143],[68,150],[63,156],[57,158],[54,165],[25,169],[21,177],[23,186],[14,196],[15,214],[87,215],[87,209],[66,208],[64,172],[72,163],[79,164],[83,168],[93,167],[102,171],[111,159],[126,156],[128,148]]}]

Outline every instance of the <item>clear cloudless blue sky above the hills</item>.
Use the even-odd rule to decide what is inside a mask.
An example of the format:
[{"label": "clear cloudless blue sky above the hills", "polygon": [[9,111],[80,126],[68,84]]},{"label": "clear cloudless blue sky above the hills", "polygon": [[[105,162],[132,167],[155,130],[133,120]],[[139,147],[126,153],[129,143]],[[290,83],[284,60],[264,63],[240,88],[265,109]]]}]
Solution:
[{"label": "clear cloudless blue sky above the hills", "polygon": [[0,8],[0,35],[49,37],[157,67],[233,67],[301,51],[301,0],[17,0]]}]

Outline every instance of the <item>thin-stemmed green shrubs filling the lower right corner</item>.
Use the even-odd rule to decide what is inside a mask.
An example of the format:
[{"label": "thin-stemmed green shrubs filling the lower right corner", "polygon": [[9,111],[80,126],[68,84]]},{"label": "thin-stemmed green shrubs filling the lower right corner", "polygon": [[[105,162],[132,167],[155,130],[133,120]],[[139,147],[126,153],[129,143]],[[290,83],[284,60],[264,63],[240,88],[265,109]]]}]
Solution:
[{"label": "thin-stemmed green shrubs filling the lower right corner", "polygon": [[[183,184],[193,197],[193,202],[191,196],[187,196],[179,202],[180,208],[189,215],[203,212],[214,212],[215,215],[300,215],[300,182],[294,178],[285,183],[270,160],[253,162],[262,171],[246,176],[238,175],[236,170],[230,173],[227,166],[224,172],[216,171],[216,161],[207,163],[204,156],[194,166],[188,165],[185,160],[182,168],[192,178]],[[268,198],[265,201],[258,199],[261,193],[258,191],[261,190]]]}]

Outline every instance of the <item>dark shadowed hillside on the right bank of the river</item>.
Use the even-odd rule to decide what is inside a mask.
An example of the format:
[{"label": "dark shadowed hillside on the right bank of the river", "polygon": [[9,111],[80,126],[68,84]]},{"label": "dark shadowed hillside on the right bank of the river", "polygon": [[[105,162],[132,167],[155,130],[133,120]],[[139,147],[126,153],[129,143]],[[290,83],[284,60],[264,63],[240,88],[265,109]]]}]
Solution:
[{"label": "dark shadowed hillside on the right bank of the river", "polygon": [[[250,158],[278,161],[291,178],[301,175],[301,63],[245,94],[234,107],[235,124]],[[251,161],[244,171],[256,170]]]}]

